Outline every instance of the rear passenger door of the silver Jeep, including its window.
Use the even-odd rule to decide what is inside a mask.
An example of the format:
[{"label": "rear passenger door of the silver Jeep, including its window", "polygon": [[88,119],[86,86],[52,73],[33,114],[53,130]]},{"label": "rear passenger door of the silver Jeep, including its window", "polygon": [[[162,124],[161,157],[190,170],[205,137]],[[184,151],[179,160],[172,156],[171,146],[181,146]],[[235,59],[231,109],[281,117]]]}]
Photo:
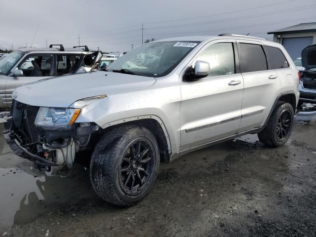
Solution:
[{"label": "rear passenger door of the silver Jeep, including its window", "polygon": [[281,93],[281,83],[276,71],[268,70],[261,42],[237,40],[237,47],[244,83],[238,132],[243,132],[263,125],[276,96]]}]

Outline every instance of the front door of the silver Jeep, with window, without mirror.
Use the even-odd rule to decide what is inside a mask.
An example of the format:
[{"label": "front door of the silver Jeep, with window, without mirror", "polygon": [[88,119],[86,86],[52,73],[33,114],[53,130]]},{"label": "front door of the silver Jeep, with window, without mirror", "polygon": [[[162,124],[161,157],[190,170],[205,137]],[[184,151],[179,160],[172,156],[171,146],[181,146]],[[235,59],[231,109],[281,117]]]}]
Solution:
[{"label": "front door of the silver Jeep, with window, without mirror", "polygon": [[[235,134],[241,118],[243,79],[239,73],[235,40],[212,41],[193,60],[208,62],[210,74],[182,80],[180,150]],[[190,68],[189,67],[189,68]]]}]

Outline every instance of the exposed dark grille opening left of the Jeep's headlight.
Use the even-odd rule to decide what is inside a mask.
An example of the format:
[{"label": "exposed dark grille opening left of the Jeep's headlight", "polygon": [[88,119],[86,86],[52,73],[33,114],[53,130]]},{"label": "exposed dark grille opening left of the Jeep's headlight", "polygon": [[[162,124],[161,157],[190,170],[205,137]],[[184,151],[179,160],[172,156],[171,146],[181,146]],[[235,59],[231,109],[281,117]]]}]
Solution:
[{"label": "exposed dark grille opening left of the Jeep's headlight", "polygon": [[16,100],[12,102],[11,116],[14,127],[26,144],[39,140],[39,130],[34,124],[39,109],[40,107],[26,105]]}]

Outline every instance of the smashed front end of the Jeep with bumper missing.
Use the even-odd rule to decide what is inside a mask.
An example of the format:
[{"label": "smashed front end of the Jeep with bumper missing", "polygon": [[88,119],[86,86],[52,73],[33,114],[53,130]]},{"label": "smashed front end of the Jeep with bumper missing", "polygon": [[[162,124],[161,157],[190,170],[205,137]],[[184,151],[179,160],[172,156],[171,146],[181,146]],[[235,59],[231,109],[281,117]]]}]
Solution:
[{"label": "smashed front end of the Jeep with bumper missing", "polygon": [[40,121],[47,121],[39,113],[42,108],[13,100],[12,118],[4,123],[3,135],[17,156],[34,161],[36,168],[53,176],[72,168],[76,152],[89,149],[89,142],[98,133],[99,126],[89,122],[72,122],[57,128],[39,126],[36,124]]}]

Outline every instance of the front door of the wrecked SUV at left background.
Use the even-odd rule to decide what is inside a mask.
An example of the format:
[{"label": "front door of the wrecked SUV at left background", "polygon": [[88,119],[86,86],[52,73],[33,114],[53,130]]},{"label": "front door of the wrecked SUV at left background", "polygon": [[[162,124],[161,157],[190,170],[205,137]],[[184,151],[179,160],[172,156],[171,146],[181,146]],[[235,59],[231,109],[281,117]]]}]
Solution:
[{"label": "front door of the wrecked SUV at left background", "polygon": [[5,83],[5,100],[8,107],[11,106],[11,94],[16,87],[53,76],[52,60],[52,54],[30,54],[19,63],[17,69],[23,72],[23,76],[14,77],[11,73]]}]

